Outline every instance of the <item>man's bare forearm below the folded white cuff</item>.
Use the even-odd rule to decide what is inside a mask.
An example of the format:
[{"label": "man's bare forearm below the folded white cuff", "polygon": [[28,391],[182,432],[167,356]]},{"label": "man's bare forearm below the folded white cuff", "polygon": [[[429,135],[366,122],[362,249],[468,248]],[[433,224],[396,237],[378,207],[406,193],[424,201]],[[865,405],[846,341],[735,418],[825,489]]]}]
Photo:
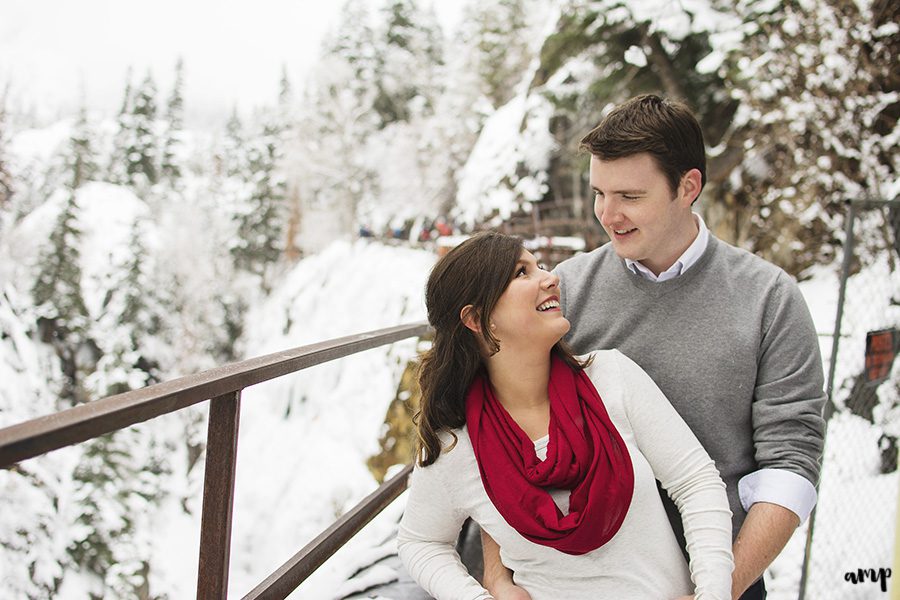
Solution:
[{"label": "man's bare forearm below the folded white cuff", "polygon": [[798,525],[800,517],[783,506],[757,502],[750,507],[732,548],[732,598],[740,598],[753,582],[762,577],[763,571],[781,553]]}]

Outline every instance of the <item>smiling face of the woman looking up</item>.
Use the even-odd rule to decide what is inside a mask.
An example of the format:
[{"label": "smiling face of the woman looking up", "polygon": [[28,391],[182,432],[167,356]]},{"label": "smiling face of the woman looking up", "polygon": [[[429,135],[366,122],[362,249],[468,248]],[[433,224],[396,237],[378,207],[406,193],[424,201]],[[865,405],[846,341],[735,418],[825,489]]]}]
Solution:
[{"label": "smiling face of the woman looking up", "polygon": [[513,280],[491,313],[491,333],[504,346],[547,344],[548,350],[569,331],[559,309],[559,277],[523,250]]}]

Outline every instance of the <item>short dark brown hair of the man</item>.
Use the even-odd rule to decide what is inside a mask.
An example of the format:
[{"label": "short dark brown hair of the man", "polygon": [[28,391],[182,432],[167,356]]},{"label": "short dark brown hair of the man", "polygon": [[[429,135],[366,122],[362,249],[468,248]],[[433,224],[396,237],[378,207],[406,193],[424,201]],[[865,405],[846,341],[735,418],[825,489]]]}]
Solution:
[{"label": "short dark brown hair of the man", "polygon": [[678,190],[681,176],[700,171],[706,185],[703,132],[691,110],[681,102],[653,94],[636,96],[615,107],[581,140],[581,148],[601,160],[615,160],[646,152]]}]

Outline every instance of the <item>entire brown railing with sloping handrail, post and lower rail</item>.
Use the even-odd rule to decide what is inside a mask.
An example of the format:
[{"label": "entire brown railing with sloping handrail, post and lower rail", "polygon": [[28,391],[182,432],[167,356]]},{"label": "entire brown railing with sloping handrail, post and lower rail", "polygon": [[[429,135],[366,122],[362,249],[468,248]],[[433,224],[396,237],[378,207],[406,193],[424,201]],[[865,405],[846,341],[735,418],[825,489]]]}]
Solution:
[{"label": "entire brown railing with sloping handrail, post and lower rail", "polygon": [[[200,532],[197,597],[225,598],[231,551],[235,464],[241,392],[398,340],[420,337],[427,323],[413,323],[300,346],[225,365],[139,390],[82,404],[0,429],[0,468],[210,400],[206,472]],[[246,598],[284,598],[406,488],[411,466],[358,504],[310,542]]]}]

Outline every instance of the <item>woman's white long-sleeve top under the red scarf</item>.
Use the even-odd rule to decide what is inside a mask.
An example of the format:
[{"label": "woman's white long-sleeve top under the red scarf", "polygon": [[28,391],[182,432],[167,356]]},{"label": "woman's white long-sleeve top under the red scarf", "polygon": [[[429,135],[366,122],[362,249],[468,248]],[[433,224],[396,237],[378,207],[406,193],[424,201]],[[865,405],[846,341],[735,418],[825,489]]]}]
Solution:
[{"label": "woman's white long-sleeve top under the red scarf", "polygon": [[[526,540],[488,498],[463,427],[455,431],[459,441],[452,450],[414,469],[397,537],[404,566],[432,596],[491,598],[455,549],[460,528],[471,517],[500,545],[503,564],[533,600],[731,598],[731,511],[712,459],[656,384],[626,356],[617,350],[597,352],[586,372],[634,467],[634,495],[618,533],[581,556]],[[539,441],[538,449],[545,442]],[[690,567],[666,518],[656,479],[681,512]],[[563,512],[568,493],[551,492]]]}]

